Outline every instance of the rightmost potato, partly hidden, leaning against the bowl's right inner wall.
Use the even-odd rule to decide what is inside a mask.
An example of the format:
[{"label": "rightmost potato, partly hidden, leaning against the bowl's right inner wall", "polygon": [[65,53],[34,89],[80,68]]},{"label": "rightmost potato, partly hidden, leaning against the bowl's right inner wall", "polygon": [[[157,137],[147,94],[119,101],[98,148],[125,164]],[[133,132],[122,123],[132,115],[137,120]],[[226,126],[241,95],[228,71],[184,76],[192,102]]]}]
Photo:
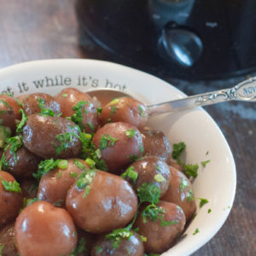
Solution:
[{"label": "rightmost potato, partly hidden, leaning against the bowl's right inner wall", "polygon": [[170,166],[172,180],[166,194],[161,198],[163,201],[170,201],[182,207],[187,221],[193,217],[196,207],[193,199],[193,188],[183,172]]}]

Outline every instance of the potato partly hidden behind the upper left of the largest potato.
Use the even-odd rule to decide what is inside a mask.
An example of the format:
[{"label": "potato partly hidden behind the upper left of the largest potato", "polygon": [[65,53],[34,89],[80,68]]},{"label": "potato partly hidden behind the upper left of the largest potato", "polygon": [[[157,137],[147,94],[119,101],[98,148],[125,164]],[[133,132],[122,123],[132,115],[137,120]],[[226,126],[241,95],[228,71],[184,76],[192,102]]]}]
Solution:
[{"label": "potato partly hidden behind the upper left of the largest potato", "polygon": [[[76,182],[76,177],[82,173],[74,163],[75,159],[67,160],[67,169],[55,168],[44,174],[41,178],[38,186],[38,199],[42,201],[48,201],[50,203],[58,202],[65,205],[67,190],[71,188],[73,183]],[[84,160],[79,160],[84,164],[85,168],[90,168],[84,162]],[[76,173],[76,177],[71,176],[71,172]]]}]

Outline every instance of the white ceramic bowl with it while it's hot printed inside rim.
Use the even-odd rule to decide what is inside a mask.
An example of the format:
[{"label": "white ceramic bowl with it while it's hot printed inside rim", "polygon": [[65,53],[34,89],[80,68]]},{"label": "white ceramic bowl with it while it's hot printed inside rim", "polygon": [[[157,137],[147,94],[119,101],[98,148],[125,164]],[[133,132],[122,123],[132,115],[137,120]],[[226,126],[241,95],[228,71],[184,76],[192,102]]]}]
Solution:
[{"label": "white ceramic bowl with it while it's hot printed inside rim", "polygon": [[[150,104],[185,96],[148,73],[106,61],[31,61],[0,70],[0,91],[9,90],[15,96],[42,91],[54,95],[71,86],[84,91],[111,87]],[[164,131],[170,143],[185,142],[186,162],[200,166],[194,183],[195,197],[206,198],[209,203],[197,207],[197,215],[185,232],[187,236],[162,254],[189,255],[218,232],[230,213],[236,193],[235,162],[218,125],[202,108],[160,115],[149,125]],[[211,161],[202,168],[201,161],[205,160]],[[208,209],[212,212],[208,213]],[[199,232],[193,235],[196,229]]]}]

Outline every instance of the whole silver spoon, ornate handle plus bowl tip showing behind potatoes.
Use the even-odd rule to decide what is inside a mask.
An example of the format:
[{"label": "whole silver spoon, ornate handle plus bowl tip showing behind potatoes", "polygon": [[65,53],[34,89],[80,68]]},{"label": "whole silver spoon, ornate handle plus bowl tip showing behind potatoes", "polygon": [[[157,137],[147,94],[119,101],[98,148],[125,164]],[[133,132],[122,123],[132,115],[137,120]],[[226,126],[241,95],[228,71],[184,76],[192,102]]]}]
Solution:
[{"label": "whole silver spoon, ornate handle plus bowl tip showing behind potatoes", "polygon": [[[96,96],[102,105],[112,101],[113,98],[120,96],[130,96],[129,94],[113,89],[100,89],[87,91],[90,96]],[[154,116],[160,113],[170,113],[177,110],[195,108],[216,104],[218,102],[244,101],[256,102],[256,77],[247,79],[240,84],[224,90],[215,90],[212,92],[202,93],[195,96],[189,96],[171,102],[149,105],[148,113]]]}]

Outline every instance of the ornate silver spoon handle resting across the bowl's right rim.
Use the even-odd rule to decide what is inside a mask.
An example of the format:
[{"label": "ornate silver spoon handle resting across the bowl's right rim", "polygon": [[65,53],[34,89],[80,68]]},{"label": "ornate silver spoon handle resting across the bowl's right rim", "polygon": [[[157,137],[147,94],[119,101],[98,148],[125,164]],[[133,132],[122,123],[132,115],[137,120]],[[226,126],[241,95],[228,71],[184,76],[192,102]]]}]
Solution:
[{"label": "ornate silver spoon handle resting across the bowl's right rim", "polygon": [[218,102],[229,101],[256,102],[256,77],[247,79],[233,88],[216,90],[195,96],[189,96],[172,102],[164,102],[148,106],[149,115],[169,113],[181,109],[207,106]]}]

